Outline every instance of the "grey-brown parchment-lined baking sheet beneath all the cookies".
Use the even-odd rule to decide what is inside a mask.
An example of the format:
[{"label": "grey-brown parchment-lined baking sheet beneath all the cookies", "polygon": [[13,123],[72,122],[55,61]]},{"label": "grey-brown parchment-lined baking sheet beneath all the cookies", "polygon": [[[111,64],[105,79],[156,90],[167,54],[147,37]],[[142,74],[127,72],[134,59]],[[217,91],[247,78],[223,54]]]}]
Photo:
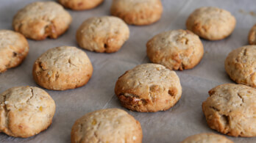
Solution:
[{"label": "grey-brown parchment-lined baking sheet beneath all the cookies", "polygon": [[[13,15],[33,0],[0,0],[0,29],[12,29]],[[29,41],[29,55],[19,67],[0,74],[0,92],[16,86],[36,86],[32,79],[35,59],[61,45],[77,46],[77,28],[87,18],[110,15],[110,0],[93,10],[71,11],[73,22],[68,32],[57,40]],[[192,70],[177,71],[182,84],[182,98],[168,111],[138,113],[121,107],[115,97],[114,87],[118,76],[136,65],[147,63],[146,42],[155,34],[171,29],[185,29],[188,15],[198,7],[215,6],[235,15],[237,25],[233,34],[225,40],[202,40],[205,56]],[[92,64],[93,76],[84,87],[67,91],[50,91],[57,108],[51,126],[42,133],[27,139],[13,138],[0,133],[0,142],[70,142],[71,127],[82,115],[98,109],[119,108],[132,114],[141,122],[143,142],[181,142],[195,133],[213,132],[207,127],[202,113],[202,101],[208,90],[224,83],[233,83],[224,70],[224,59],[232,49],[247,44],[249,29],[256,23],[255,0],[163,0],[164,12],[160,21],[150,26],[129,26],[130,38],[120,51],[114,54],[98,54],[85,51]],[[256,142],[256,138],[234,138],[234,142]]]}]

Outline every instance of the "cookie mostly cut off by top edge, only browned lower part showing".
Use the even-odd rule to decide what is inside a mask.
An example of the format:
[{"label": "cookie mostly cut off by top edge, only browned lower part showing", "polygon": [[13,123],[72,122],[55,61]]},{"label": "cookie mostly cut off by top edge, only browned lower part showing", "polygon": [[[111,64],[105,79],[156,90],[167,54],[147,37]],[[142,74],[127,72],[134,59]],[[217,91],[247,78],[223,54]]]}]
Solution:
[{"label": "cookie mostly cut off by top edge, only browned lower part showing", "polygon": [[60,4],[71,10],[89,10],[102,4],[104,0],[58,0]]}]

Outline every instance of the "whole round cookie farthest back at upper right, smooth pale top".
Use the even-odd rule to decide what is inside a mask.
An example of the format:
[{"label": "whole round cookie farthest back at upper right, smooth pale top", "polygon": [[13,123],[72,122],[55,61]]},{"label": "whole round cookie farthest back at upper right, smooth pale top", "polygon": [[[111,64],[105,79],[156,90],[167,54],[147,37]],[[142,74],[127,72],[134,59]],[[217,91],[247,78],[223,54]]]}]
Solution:
[{"label": "whole round cookie farthest back at upper right, smooth pale top", "polygon": [[186,26],[206,40],[222,40],[233,32],[235,23],[235,17],[227,10],[201,7],[189,15]]}]

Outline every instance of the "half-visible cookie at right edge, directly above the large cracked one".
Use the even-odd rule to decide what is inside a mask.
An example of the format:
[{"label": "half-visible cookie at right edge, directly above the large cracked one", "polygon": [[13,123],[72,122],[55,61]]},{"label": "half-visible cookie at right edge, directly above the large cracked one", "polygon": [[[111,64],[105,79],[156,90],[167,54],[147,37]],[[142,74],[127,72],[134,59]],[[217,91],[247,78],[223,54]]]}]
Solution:
[{"label": "half-visible cookie at right edge, directly above the large cracked one", "polygon": [[256,45],[246,45],[231,51],[225,60],[225,69],[238,84],[256,87]]}]

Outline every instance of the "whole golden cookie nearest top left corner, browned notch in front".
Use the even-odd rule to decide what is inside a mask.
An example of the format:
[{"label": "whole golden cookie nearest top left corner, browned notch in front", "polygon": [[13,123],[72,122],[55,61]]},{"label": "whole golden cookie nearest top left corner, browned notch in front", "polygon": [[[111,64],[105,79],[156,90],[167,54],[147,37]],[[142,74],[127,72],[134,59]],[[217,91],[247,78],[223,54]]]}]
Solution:
[{"label": "whole golden cookie nearest top left corner, browned notch in front", "polygon": [[54,1],[26,5],[13,18],[13,29],[32,40],[56,39],[71,24],[71,15]]}]

